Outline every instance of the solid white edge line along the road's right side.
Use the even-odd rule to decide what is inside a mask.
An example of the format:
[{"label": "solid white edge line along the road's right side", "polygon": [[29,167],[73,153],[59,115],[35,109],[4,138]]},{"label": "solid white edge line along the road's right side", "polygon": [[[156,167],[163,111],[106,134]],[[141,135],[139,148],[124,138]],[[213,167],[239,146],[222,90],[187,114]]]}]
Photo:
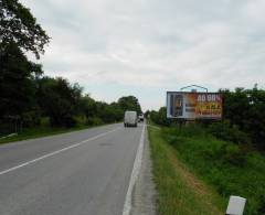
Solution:
[{"label": "solid white edge line along the road's right side", "polygon": [[131,209],[131,194],[141,168],[146,125],[142,126],[140,142],[136,152],[135,163],[130,175],[129,186],[125,198],[123,215],[129,215]]}]

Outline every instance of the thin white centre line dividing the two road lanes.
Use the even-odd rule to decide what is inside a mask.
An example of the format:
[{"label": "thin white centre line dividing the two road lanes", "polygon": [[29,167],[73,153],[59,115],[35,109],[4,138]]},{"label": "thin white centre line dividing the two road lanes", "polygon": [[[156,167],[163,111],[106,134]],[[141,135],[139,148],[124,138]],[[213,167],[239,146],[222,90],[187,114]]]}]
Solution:
[{"label": "thin white centre line dividing the two road lanes", "polygon": [[118,128],[113,129],[113,130],[110,130],[110,131],[107,131],[107,132],[97,135],[97,136],[95,136],[95,137],[88,138],[88,139],[86,139],[86,140],[83,140],[83,141],[81,141],[81,142],[77,142],[77,143],[75,143],[75,144],[71,144],[70,147],[65,147],[65,148],[63,148],[63,149],[60,149],[60,150],[53,151],[53,152],[51,152],[51,153],[44,154],[44,155],[42,155],[42,157],[39,157],[39,158],[33,159],[33,160],[31,160],[31,161],[21,163],[21,164],[19,164],[19,165],[15,165],[15,166],[13,166],[13,168],[8,169],[8,170],[3,170],[3,171],[0,172],[0,175],[6,174],[6,173],[9,173],[9,172],[12,172],[12,171],[14,171],[14,170],[18,170],[18,169],[20,169],[20,168],[23,168],[23,166],[25,166],[25,165],[29,165],[29,164],[31,164],[31,163],[35,163],[35,162],[41,161],[41,160],[43,160],[43,159],[46,159],[46,158],[49,158],[49,157],[59,154],[59,153],[61,153],[61,152],[63,152],[63,151],[67,151],[67,150],[70,150],[70,149],[73,149],[73,148],[75,148],[75,147],[78,147],[78,146],[84,144],[84,143],[86,143],[86,142],[89,142],[89,141],[92,141],[92,140],[98,139],[98,138],[104,137],[104,136],[106,136],[106,135],[108,135],[108,133],[112,133],[112,132],[114,132],[114,131],[116,131],[116,130],[118,130],[118,129],[120,129],[120,128],[121,128],[121,127],[118,127]]}]

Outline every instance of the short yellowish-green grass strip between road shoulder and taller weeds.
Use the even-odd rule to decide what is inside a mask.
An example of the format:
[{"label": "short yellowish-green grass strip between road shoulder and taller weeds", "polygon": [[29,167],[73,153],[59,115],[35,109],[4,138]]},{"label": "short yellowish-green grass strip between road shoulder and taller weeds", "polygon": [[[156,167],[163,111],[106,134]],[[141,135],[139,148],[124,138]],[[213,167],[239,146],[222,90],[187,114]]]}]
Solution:
[{"label": "short yellowish-green grass strip between road shoulder and taller weeds", "polygon": [[178,151],[157,127],[149,127],[153,176],[161,215],[224,214],[225,201],[202,183],[178,159]]}]

